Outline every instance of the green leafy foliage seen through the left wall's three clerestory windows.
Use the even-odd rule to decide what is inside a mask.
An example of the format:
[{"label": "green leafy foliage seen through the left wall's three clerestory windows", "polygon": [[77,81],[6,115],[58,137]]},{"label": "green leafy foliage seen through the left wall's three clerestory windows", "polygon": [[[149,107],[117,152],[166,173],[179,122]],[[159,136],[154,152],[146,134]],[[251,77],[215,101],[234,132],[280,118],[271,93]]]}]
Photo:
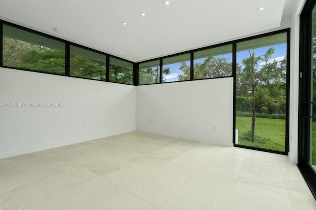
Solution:
[{"label": "green leafy foliage seen through the left wall's three clerestory windows", "polygon": [[[65,75],[65,52],[3,37],[3,66]],[[110,81],[133,84],[133,70],[110,65]],[[106,80],[106,63],[71,55],[70,75]]]}]

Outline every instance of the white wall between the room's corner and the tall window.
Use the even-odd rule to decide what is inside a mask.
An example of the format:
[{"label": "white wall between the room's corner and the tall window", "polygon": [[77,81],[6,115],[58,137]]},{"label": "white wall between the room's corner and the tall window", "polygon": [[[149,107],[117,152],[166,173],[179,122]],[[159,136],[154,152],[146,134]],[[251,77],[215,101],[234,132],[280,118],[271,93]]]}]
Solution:
[{"label": "white wall between the room's corner and the tall window", "polygon": [[136,130],[233,146],[233,78],[137,86]]}]

